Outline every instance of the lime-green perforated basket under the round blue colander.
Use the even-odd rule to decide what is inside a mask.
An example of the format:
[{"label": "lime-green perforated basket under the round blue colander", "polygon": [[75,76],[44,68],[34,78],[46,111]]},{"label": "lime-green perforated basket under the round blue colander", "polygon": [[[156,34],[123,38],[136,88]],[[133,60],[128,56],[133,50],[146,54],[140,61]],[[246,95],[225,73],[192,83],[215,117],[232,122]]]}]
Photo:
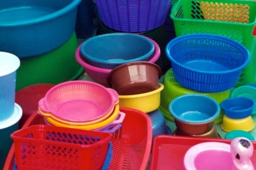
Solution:
[{"label": "lime-green perforated basket under the round blue colander", "polygon": [[[222,92],[212,92],[212,93],[204,93],[193,91],[183,87],[180,83],[178,83],[173,75],[173,69],[170,68],[164,75],[163,78],[163,85],[164,89],[161,91],[160,95],[160,107],[158,108],[164,115],[165,118],[174,122],[174,118],[170,115],[169,112],[169,104],[178,96],[184,94],[203,94],[211,97],[212,99],[216,100],[218,103],[221,103],[225,99],[228,99],[230,96],[230,90],[225,90]],[[195,101],[196,104],[196,101]],[[184,103],[184,107],[186,104]],[[220,115],[216,118],[215,124],[219,124],[222,122],[224,112],[221,110]]]}]

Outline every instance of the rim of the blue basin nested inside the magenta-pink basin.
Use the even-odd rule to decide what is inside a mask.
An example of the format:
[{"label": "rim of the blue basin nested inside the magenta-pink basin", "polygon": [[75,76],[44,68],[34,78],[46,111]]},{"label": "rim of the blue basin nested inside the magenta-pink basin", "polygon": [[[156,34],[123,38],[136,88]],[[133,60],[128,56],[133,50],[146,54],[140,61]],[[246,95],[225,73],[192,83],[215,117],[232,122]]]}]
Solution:
[{"label": "rim of the blue basin nested inside the magenta-pink basin", "polygon": [[[143,56],[140,56],[140,57],[137,57],[137,58],[134,58],[134,59],[129,59],[129,60],[121,60],[121,61],[108,61],[108,60],[102,60],[102,59],[98,59],[98,58],[95,58],[89,54],[87,54],[85,51],[84,51],[84,46],[87,45],[88,43],[90,43],[90,41],[92,40],[95,40],[97,38],[101,38],[101,37],[106,37],[106,36],[116,36],[116,35],[119,35],[119,36],[133,36],[133,37],[139,37],[141,39],[143,39],[144,41],[148,42],[148,44],[150,44],[151,46],[151,50],[147,52],[147,54],[143,55]],[[142,61],[146,58],[150,58],[155,52],[155,45],[154,43],[146,38],[145,36],[142,36],[142,35],[139,35],[139,34],[135,34],[135,33],[108,33],[108,34],[102,34],[102,35],[97,35],[97,36],[94,36],[94,37],[91,37],[89,39],[87,39],[86,41],[84,41],[82,44],[81,44],[81,47],[80,47],[80,53],[82,55],[82,57],[90,60],[90,61],[93,61],[93,62],[97,62],[97,63],[102,63],[102,64],[124,64],[124,63],[127,63],[127,62],[134,62],[134,61]]]}]

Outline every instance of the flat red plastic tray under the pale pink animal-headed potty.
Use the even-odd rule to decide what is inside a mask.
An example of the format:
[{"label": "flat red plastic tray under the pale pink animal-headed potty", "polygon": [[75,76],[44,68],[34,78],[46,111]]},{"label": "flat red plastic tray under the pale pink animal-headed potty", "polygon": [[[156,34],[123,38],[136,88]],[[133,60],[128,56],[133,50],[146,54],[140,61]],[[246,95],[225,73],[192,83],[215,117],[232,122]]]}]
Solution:
[{"label": "flat red plastic tray under the pale pink animal-headed potty", "polygon": [[[154,138],[150,169],[184,169],[183,158],[186,151],[195,144],[218,141],[230,143],[228,139],[182,137],[159,135]],[[251,161],[256,167],[256,141],[252,141],[254,153]]]}]

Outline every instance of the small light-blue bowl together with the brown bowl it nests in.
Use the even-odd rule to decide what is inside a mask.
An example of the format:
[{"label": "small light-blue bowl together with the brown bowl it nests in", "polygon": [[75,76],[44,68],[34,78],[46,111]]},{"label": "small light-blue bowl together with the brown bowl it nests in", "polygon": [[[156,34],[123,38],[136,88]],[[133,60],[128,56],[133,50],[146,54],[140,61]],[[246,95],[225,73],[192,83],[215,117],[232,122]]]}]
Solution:
[{"label": "small light-blue bowl together with the brown bowl it nests in", "polygon": [[169,104],[177,129],[192,135],[207,133],[220,114],[219,104],[202,94],[185,94]]}]

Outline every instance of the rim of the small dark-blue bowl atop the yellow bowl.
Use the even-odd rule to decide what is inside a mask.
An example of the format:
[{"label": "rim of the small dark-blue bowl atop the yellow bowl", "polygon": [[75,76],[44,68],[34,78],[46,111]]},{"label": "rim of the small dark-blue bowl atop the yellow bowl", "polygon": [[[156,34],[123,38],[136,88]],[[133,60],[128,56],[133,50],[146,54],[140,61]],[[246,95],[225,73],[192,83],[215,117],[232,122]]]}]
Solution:
[{"label": "rim of the small dark-blue bowl atop the yellow bowl", "polygon": [[[244,100],[244,101],[247,101],[247,103],[250,102],[250,107],[246,108],[246,109],[243,109],[243,110],[230,110],[228,107],[225,106],[225,104],[227,102],[230,102],[230,101],[234,101],[234,100]],[[241,113],[241,112],[244,112],[244,111],[249,111],[253,109],[255,105],[255,102],[249,98],[245,98],[245,97],[233,97],[233,98],[228,98],[228,99],[225,99],[224,101],[221,102],[220,106],[221,108],[225,111],[232,111],[232,112],[236,112],[236,113]]]}]

